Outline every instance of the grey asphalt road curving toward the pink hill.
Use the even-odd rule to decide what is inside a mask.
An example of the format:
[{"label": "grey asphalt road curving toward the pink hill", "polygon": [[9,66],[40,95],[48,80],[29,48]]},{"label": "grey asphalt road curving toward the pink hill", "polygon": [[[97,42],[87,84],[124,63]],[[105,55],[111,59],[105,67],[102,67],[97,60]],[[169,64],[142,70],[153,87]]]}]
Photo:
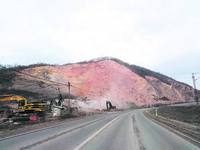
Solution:
[{"label": "grey asphalt road curving toward the pink hill", "polygon": [[200,150],[147,119],[110,112],[0,141],[0,150]]}]

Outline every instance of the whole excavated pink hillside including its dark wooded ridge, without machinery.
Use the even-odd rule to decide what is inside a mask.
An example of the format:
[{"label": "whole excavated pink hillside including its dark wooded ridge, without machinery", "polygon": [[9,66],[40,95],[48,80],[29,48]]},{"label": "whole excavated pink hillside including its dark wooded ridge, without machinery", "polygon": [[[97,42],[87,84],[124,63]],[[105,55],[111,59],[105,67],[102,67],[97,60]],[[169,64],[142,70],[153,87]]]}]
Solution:
[{"label": "whole excavated pink hillside including its dark wooded ridge, without machinery", "polygon": [[[11,71],[12,81],[1,91],[27,91],[38,99],[55,98],[58,88],[89,100],[109,100],[118,108],[193,100],[192,87],[172,78],[117,59],[61,66],[42,65]],[[34,96],[32,96],[34,98]]]}]

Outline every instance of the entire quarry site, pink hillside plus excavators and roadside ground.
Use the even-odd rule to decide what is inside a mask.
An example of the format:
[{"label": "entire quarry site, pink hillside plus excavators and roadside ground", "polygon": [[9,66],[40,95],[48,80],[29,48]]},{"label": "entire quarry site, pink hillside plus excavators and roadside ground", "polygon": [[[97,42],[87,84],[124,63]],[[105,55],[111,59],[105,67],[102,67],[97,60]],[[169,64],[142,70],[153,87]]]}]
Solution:
[{"label": "entire quarry site, pink hillside plus excavators and roadside ground", "polygon": [[0,67],[2,137],[91,115],[193,99],[188,85],[114,60]]}]

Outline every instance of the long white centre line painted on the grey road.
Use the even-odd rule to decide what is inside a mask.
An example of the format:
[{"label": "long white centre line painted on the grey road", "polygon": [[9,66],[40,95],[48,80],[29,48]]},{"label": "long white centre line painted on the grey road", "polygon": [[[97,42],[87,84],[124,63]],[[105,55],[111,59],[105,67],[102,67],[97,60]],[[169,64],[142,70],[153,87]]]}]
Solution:
[{"label": "long white centre line painted on the grey road", "polygon": [[[122,114],[123,115],[123,114]],[[117,119],[119,119],[122,115],[116,117],[115,119],[113,119],[112,121],[110,121],[109,123],[107,123],[106,125],[104,125],[101,129],[99,129],[97,132],[95,132],[93,135],[91,135],[90,137],[88,137],[85,141],[83,141],[81,144],[79,144],[76,148],[74,148],[74,150],[80,150],[85,144],[87,144],[92,138],[94,138],[97,134],[99,134],[101,131],[103,131],[106,127],[108,127],[109,125],[111,125],[113,122],[115,122]]]}]

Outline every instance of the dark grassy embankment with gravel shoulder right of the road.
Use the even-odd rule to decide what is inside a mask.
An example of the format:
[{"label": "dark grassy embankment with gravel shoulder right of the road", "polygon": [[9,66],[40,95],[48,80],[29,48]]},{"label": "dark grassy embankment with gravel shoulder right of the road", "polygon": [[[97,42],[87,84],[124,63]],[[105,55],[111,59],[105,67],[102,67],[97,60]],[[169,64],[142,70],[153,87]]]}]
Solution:
[{"label": "dark grassy embankment with gravel shoulder right of the road", "polygon": [[161,126],[200,147],[200,106],[161,107],[144,112]]}]

